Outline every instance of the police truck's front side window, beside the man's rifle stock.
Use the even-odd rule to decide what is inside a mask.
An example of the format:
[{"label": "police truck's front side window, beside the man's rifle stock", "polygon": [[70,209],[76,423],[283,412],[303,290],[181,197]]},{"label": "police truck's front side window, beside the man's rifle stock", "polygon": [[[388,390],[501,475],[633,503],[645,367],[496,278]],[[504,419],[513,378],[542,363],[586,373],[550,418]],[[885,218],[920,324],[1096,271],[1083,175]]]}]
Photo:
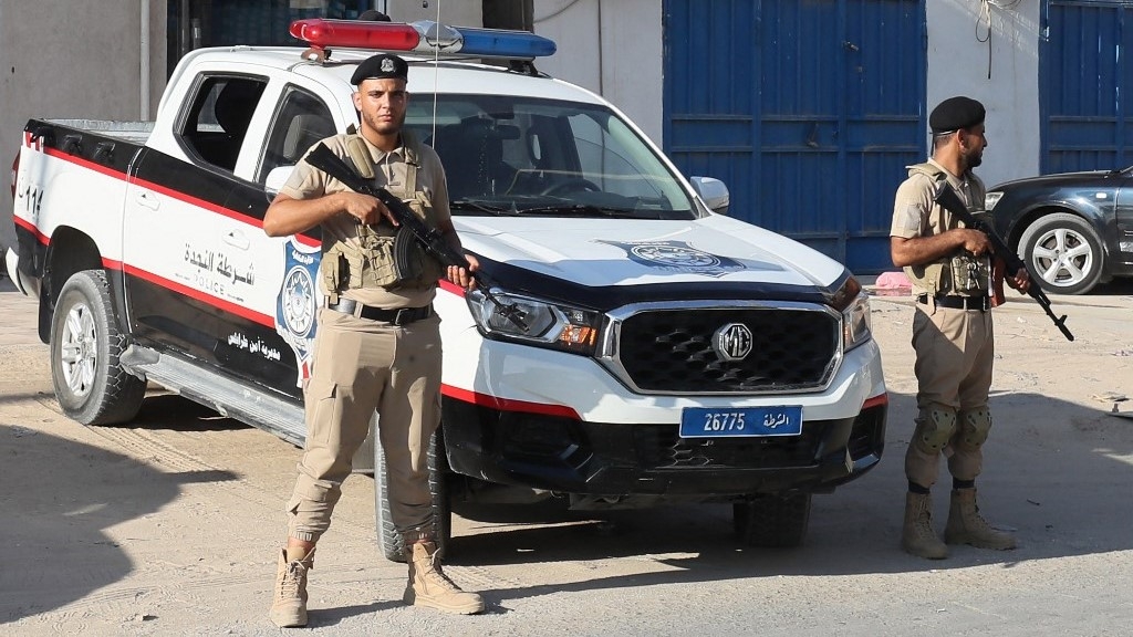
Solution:
[{"label": "police truck's front side window, beside the man's rifle stock", "polygon": [[288,86],[267,128],[256,180],[263,184],[272,169],[295,165],[316,142],[335,133],[334,118],[322,100],[298,86]]}]

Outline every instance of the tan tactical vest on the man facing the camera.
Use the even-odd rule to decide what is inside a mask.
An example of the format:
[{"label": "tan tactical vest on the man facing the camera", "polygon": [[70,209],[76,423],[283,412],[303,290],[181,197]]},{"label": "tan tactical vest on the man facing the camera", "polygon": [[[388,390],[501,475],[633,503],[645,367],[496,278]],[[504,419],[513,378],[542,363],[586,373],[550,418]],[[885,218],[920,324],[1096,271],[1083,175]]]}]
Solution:
[{"label": "tan tactical vest on the man facing the camera", "polygon": [[[386,189],[404,201],[426,226],[436,228],[436,211],[426,194],[417,189],[420,143],[408,130],[401,131],[401,141],[406,151],[406,184],[403,188]],[[346,147],[358,173],[373,180],[374,160],[366,141],[360,135],[350,135],[346,139]],[[403,226],[395,228],[384,222],[359,224],[358,240],[358,245],[335,241],[323,255],[320,275],[331,303],[338,303],[339,292],[347,289],[429,287],[445,273],[441,263]]]}]

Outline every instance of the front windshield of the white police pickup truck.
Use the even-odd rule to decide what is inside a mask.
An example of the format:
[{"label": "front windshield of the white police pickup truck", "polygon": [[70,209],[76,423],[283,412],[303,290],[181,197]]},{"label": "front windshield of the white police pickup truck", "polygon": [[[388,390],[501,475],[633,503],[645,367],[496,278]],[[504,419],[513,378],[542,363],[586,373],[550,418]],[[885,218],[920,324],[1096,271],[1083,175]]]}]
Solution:
[{"label": "front windshield of the white police pickup truck", "polygon": [[406,126],[436,148],[453,214],[702,214],[654,151],[608,108],[499,95],[410,101]]}]

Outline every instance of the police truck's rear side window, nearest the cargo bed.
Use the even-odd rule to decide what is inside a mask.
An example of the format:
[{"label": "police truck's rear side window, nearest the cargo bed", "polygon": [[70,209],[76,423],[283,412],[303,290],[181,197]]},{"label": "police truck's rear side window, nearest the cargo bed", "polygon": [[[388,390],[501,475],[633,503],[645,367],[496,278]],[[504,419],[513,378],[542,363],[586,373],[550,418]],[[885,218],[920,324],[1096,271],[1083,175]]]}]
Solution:
[{"label": "police truck's rear side window, nearest the cargo bed", "polygon": [[263,78],[231,76],[210,76],[199,82],[177,131],[186,152],[231,172],[266,85]]}]

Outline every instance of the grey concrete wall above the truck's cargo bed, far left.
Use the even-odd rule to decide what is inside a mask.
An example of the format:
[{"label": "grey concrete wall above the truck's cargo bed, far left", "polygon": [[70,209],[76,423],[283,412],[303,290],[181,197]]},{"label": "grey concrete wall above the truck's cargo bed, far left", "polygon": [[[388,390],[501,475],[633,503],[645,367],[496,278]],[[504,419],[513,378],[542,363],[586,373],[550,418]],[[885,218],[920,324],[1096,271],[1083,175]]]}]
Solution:
[{"label": "grey concrete wall above the truck's cargo bed, far left", "polygon": [[[0,172],[9,175],[29,118],[153,117],[165,85],[165,0],[0,0]],[[143,100],[146,66],[150,95]],[[2,181],[0,245],[7,246],[15,237],[9,179]]]}]

